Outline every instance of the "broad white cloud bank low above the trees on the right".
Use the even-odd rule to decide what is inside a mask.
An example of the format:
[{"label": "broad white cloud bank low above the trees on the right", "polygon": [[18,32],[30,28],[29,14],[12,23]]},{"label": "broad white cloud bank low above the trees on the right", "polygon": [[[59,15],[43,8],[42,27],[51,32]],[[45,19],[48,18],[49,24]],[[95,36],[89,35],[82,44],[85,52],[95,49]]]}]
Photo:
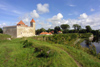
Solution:
[{"label": "broad white cloud bank low above the trees on the right", "polygon": [[[57,14],[58,15],[58,14]],[[51,28],[55,26],[60,26],[61,24],[69,24],[71,29],[73,24],[79,24],[82,28],[85,26],[90,25],[92,29],[99,29],[100,28],[100,14],[94,15],[87,15],[86,13],[80,14],[78,17],[79,19],[63,19],[63,15],[60,19],[57,19],[57,15],[49,18],[47,21],[51,22]],[[56,17],[56,18],[55,18]]]}]

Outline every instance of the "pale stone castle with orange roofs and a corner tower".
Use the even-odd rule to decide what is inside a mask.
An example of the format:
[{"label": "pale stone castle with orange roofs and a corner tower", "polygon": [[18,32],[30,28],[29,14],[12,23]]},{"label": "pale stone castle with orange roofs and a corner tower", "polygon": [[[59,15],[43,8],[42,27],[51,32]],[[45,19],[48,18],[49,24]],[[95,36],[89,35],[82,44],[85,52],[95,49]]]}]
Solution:
[{"label": "pale stone castle with orange roofs and a corner tower", "polygon": [[21,20],[16,26],[3,27],[3,34],[8,34],[15,38],[35,36],[35,21],[32,19],[30,26],[25,25]]}]

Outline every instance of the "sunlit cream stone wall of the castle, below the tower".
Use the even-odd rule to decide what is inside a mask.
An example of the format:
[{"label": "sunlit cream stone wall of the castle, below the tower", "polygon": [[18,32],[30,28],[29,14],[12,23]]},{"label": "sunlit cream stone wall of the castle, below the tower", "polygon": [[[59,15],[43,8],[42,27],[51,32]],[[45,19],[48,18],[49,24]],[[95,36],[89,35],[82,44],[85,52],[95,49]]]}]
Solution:
[{"label": "sunlit cream stone wall of the castle, below the tower", "polygon": [[17,26],[17,38],[35,36],[35,29],[33,27]]}]

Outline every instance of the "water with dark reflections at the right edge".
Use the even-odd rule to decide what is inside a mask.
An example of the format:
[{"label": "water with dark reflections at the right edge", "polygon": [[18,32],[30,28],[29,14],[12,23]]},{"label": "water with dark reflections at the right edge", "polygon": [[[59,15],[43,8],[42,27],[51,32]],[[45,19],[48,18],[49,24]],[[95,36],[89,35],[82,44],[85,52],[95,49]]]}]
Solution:
[{"label": "water with dark reflections at the right edge", "polygon": [[80,45],[82,47],[88,47],[89,48],[89,45],[95,45],[96,47],[96,52],[99,53],[100,52],[100,37],[94,37],[93,41],[89,41],[89,40],[85,40],[83,41]]}]

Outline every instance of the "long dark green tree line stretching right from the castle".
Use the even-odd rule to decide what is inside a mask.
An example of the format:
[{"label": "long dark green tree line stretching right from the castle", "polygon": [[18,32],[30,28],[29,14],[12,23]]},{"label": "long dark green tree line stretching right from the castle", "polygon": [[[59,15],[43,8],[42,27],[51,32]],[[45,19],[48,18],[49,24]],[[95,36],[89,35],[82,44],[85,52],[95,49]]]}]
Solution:
[{"label": "long dark green tree line stretching right from the castle", "polygon": [[94,35],[99,35],[99,30],[92,30],[92,28],[87,25],[85,26],[85,29],[83,29],[79,24],[73,24],[74,29],[70,29],[70,26],[68,24],[62,24],[60,26],[54,27],[54,29],[37,29],[36,34],[40,34],[41,32],[51,32],[54,31],[54,34],[57,34],[58,31],[62,31],[63,34],[66,33],[93,33]]}]

